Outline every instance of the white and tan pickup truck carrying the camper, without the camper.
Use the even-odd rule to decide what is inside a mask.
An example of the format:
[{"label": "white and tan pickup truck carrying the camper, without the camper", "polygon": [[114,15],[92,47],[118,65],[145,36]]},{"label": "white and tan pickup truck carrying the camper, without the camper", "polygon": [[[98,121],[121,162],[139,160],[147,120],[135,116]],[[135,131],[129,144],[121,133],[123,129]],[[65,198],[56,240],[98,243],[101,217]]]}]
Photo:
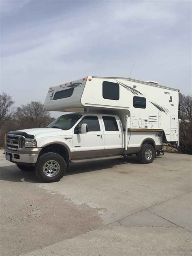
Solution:
[{"label": "white and tan pickup truck carrying the camper, without the camper", "polygon": [[[130,133],[130,132],[128,132]],[[139,132],[141,133],[141,132]],[[137,153],[140,162],[153,162],[162,147],[162,132],[134,134],[129,150],[124,150],[124,130],[117,115],[67,114],[55,119],[47,128],[9,132],[6,159],[19,169],[34,169],[44,182],[59,181],[70,161],[118,158]]]}]

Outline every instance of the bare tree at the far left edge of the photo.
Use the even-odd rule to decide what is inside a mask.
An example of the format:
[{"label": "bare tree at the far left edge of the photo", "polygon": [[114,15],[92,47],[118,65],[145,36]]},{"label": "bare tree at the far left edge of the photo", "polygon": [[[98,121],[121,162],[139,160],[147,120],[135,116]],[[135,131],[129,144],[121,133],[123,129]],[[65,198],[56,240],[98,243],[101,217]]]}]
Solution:
[{"label": "bare tree at the far left edge of the photo", "polygon": [[0,125],[2,126],[4,122],[10,120],[14,116],[14,101],[11,96],[2,93],[0,94]]}]

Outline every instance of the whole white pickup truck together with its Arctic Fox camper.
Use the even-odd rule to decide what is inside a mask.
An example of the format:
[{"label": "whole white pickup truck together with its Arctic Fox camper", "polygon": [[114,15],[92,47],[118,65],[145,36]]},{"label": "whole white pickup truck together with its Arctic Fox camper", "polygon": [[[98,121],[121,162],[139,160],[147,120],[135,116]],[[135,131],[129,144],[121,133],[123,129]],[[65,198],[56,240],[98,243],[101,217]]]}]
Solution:
[{"label": "whole white pickup truck together with its Arctic Fox camper", "polygon": [[153,81],[88,76],[50,87],[44,108],[72,112],[46,128],[11,131],[5,157],[34,169],[42,182],[59,181],[70,162],[136,154],[153,162],[163,142],[179,141],[179,90]]}]

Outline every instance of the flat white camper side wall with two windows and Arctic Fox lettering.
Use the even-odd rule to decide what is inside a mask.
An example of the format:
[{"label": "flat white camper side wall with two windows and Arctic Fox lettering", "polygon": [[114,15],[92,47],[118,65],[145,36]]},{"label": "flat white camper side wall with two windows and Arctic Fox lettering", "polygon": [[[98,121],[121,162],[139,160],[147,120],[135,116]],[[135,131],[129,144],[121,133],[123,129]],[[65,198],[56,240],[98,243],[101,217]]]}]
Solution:
[{"label": "flat white camper side wall with two windows and Arctic Fox lettering", "polygon": [[93,77],[85,85],[81,103],[85,107],[115,109],[115,113],[127,109],[131,129],[164,130],[167,141],[178,139],[176,89],[130,79]]}]

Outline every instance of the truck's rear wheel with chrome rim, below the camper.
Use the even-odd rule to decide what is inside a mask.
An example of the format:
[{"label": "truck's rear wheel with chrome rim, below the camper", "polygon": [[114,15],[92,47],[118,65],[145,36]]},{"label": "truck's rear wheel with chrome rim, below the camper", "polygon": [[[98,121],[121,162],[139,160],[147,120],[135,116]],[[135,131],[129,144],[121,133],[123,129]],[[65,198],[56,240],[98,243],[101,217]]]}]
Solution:
[{"label": "truck's rear wheel with chrome rim, below the camper", "polygon": [[142,164],[152,163],[156,157],[156,152],[154,147],[151,144],[145,143],[142,145],[139,153],[137,153],[139,162]]}]

